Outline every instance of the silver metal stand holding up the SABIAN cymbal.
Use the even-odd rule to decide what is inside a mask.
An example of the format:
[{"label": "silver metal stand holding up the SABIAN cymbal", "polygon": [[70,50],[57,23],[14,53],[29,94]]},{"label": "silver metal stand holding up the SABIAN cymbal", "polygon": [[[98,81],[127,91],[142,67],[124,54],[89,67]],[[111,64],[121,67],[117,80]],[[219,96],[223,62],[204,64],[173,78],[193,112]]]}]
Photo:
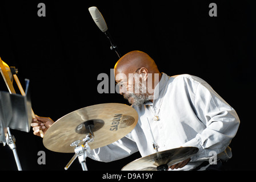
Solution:
[{"label": "silver metal stand holding up the SABIAN cymbal", "polygon": [[86,136],[86,138],[83,139],[83,144],[78,146],[78,144],[81,143],[81,140],[76,140],[75,142],[70,144],[70,146],[75,146],[75,149],[74,149],[75,155],[69,161],[69,163],[67,163],[65,170],[67,170],[71,166],[71,164],[74,162],[74,160],[78,157],[79,163],[81,164],[83,171],[88,171],[87,166],[86,166],[86,158],[87,158],[86,151],[90,153],[91,149],[90,149],[90,146],[88,143],[93,142],[94,135],[90,129],[90,125],[87,127],[89,127],[90,132]]}]

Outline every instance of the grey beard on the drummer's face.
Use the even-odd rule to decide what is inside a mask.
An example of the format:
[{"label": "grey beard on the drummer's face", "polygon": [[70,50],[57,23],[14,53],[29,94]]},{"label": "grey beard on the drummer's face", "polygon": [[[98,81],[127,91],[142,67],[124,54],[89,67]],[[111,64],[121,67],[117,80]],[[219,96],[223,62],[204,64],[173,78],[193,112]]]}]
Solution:
[{"label": "grey beard on the drummer's face", "polygon": [[142,106],[146,101],[149,101],[149,94],[142,93],[142,90],[146,90],[146,85],[139,82],[140,93],[125,93],[123,94],[123,98],[134,106]]}]

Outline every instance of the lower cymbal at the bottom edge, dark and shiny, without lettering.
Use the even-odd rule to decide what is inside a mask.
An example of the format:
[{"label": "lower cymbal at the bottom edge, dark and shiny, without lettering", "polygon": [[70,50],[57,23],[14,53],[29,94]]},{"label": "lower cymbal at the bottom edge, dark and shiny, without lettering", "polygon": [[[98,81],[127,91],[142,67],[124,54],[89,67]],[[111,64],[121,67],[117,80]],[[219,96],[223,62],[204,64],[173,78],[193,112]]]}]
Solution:
[{"label": "lower cymbal at the bottom edge, dark and shiny, without lettering", "polygon": [[134,160],[122,168],[122,171],[161,171],[168,166],[182,162],[196,154],[197,147],[179,147],[160,151]]}]

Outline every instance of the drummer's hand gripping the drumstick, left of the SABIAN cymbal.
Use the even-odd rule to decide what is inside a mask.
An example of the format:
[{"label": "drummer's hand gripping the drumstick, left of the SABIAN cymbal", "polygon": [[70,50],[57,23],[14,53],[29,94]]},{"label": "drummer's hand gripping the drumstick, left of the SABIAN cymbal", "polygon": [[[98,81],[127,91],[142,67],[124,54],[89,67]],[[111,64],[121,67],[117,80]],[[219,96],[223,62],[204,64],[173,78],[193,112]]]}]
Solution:
[{"label": "drummer's hand gripping the drumstick, left of the SABIAN cymbal", "polygon": [[35,115],[35,118],[33,119],[31,123],[31,127],[33,127],[33,134],[40,137],[39,131],[42,130],[43,134],[46,133],[46,131],[53,125],[54,121],[51,120],[51,118],[46,117],[38,117]]}]

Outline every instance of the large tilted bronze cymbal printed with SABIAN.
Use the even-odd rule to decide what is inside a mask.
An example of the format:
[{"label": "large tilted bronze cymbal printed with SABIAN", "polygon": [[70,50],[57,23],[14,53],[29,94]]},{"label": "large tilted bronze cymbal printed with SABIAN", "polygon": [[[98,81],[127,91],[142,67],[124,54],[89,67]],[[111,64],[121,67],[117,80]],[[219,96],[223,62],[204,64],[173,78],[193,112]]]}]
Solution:
[{"label": "large tilted bronze cymbal printed with SABIAN", "polygon": [[59,118],[46,131],[43,145],[55,152],[74,152],[75,147],[70,144],[76,140],[82,141],[89,133],[86,126],[93,124],[91,131],[94,133],[94,141],[88,143],[93,150],[125,137],[137,122],[137,111],[125,104],[109,103],[83,107]]}]

